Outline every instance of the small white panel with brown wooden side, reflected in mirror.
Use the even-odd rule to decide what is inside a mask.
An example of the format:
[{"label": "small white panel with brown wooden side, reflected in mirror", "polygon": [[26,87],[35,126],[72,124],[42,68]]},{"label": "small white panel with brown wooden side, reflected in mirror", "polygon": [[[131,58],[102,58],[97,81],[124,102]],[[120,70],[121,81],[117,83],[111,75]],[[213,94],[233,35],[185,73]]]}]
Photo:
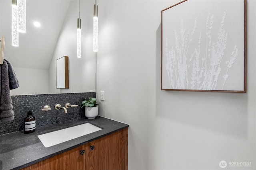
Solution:
[{"label": "small white panel with brown wooden side, reflected in mirror", "polygon": [[69,88],[67,56],[56,60],[56,78],[57,88]]}]

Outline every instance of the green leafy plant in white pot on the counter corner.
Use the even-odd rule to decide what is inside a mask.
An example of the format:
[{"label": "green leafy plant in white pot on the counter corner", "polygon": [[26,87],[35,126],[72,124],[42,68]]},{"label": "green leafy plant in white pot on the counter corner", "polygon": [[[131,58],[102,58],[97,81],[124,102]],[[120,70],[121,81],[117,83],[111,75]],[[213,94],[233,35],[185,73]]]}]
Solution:
[{"label": "green leafy plant in white pot on the counter corner", "polygon": [[96,98],[85,98],[81,108],[84,107],[84,114],[88,119],[95,119],[98,115],[99,106]]}]

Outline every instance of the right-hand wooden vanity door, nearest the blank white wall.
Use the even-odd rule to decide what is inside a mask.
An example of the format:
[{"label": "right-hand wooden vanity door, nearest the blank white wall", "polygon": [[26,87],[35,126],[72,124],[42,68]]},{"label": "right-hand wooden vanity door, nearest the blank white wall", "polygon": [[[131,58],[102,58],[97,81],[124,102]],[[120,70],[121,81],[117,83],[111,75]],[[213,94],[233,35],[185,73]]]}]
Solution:
[{"label": "right-hand wooden vanity door, nearest the blank white wall", "polygon": [[86,170],[127,170],[128,128],[86,144]]}]

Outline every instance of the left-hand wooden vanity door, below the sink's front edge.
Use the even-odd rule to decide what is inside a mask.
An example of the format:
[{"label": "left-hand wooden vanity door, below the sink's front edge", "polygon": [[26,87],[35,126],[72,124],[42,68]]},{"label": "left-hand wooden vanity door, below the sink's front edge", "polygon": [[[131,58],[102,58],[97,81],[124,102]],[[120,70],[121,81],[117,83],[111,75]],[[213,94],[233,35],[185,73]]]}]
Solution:
[{"label": "left-hand wooden vanity door, below the sink's front edge", "polygon": [[22,170],[85,170],[85,146],[68,150]]}]

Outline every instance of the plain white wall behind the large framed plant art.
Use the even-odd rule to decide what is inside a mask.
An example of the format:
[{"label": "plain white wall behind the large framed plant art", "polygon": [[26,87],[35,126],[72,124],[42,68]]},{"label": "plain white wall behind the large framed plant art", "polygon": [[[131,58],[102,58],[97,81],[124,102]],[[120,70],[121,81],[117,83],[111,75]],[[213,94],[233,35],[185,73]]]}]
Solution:
[{"label": "plain white wall behind the large framed plant art", "polygon": [[246,94],[160,90],[161,10],[177,2],[97,1],[100,115],[130,124],[129,170],[218,170],[221,160],[255,170],[256,1],[247,0]]}]

